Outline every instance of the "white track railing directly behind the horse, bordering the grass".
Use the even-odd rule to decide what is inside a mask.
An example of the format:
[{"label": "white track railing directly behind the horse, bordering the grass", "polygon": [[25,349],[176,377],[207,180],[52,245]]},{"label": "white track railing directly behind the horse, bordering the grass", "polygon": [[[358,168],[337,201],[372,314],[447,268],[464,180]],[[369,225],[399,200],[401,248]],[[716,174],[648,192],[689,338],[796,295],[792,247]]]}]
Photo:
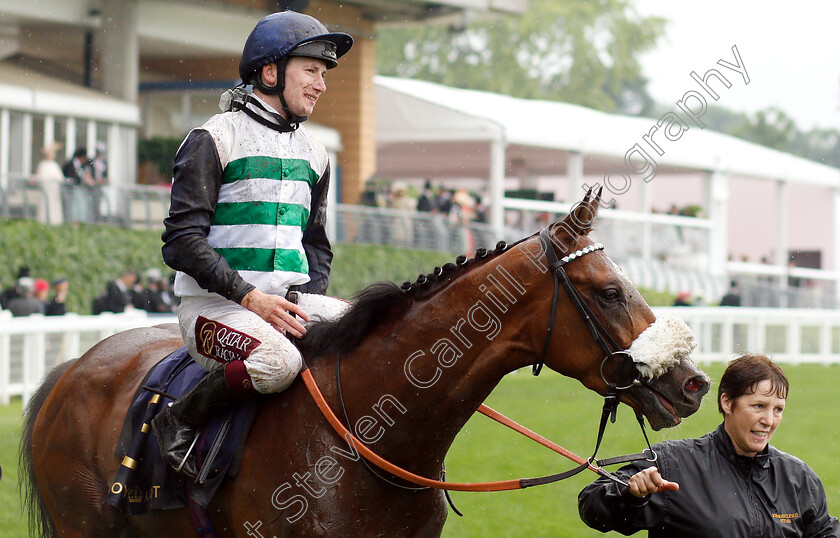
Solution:
[{"label": "white track railing directly behind the horse, bordering the grass", "polygon": [[[653,310],[657,316],[672,313],[692,328],[698,340],[698,362],[728,361],[737,353],[753,351],[788,364],[840,363],[840,313],[834,311],[727,307]],[[134,311],[0,319],[0,404],[7,405],[13,396],[27,401],[51,368],[79,357],[111,334],[163,323],[177,323],[177,318]]]}]

